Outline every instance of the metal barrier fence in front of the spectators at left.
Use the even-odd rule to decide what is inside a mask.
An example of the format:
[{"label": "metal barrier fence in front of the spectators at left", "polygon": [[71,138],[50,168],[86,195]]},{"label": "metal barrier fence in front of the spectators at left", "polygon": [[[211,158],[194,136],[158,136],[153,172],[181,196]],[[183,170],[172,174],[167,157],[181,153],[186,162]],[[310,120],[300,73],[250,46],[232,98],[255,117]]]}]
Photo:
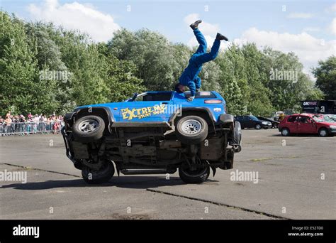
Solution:
[{"label": "metal barrier fence in front of the spectators at left", "polygon": [[59,133],[63,121],[52,122],[12,122],[0,124],[0,136]]}]

